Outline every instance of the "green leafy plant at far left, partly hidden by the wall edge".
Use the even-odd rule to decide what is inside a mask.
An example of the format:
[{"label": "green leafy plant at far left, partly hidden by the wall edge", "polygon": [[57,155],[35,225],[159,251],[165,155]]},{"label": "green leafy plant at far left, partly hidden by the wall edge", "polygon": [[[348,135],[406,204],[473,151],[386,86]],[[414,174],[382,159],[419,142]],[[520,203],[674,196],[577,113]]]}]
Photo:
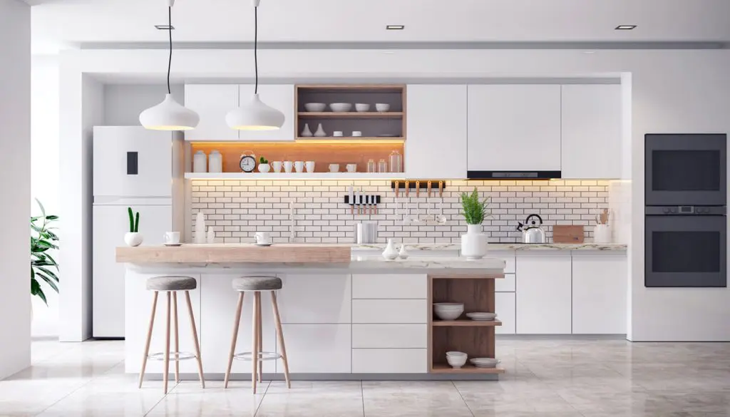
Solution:
[{"label": "green leafy plant at far left, partly hidden by the wall edge", "polygon": [[55,244],[58,242],[58,235],[53,232],[56,228],[50,226],[58,220],[58,216],[46,215],[43,204],[38,199],[36,202],[41,209],[41,215],[31,217],[31,295],[39,297],[48,305],[39,279],[58,292],[58,263],[48,253],[50,249],[58,249]]}]

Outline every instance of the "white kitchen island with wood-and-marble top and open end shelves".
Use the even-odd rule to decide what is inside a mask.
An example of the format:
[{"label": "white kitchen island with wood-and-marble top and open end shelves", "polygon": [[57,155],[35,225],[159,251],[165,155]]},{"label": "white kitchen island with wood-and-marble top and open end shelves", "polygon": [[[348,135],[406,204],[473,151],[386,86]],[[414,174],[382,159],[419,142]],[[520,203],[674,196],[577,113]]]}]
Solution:
[{"label": "white kitchen island with wood-and-marble top and open end shelves", "polygon": [[[291,250],[300,247],[291,245]],[[287,245],[275,245],[272,254],[274,248],[281,251]],[[332,253],[342,250],[342,245],[317,248]],[[253,261],[242,255],[249,250],[261,255],[261,249],[265,248],[118,248],[118,261],[127,265],[126,372],[139,372],[153,299],[145,282],[158,275],[185,275],[198,281],[191,298],[207,378],[223,378],[238,296],[231,280],[242,275],[282,278],[277,298],[294,379],[496,379],[504,372],[469,365],[454,370],[445,363],[446,351],[493,358],[494,329],[501,322],[467,321],[464,315],[457,321],[439,321],[431,308],[433,302],[464,302],[465,312],[494,312],[494,280],[504,278],[504,260],[417,256],[387,261],[379,255],[342,259],[340,253],[331,261],[322,261],[321,254],[304,260],[286,255],[288,260],[280,261],[259,256],[261,261]],[[241,261],[242,257],[246,260]],[[268,294],[262,297],[264,305],[269,305]],[[245,297],[239,351],[250,350],[251,301]],[[157,310],[158,323],[164,323],[161,310]],[[193,351],[190,326],[181,321],[180,351]],[[264,309],[262,321],[264,351],[276,351],[269,309]],[[150,351],[162,351],[164,332],[164,326],[155,326]],[[196,378],[195,367],[193,361],[183,361],[180,371]],[[150,361],[147,375],[159,376],[161,369],[161,364]],[[250,362],[234,361],[232,372],[233,379],[250,379]],[[277,361],[264,362],[264,378],[283,379],[282,372]]]}]

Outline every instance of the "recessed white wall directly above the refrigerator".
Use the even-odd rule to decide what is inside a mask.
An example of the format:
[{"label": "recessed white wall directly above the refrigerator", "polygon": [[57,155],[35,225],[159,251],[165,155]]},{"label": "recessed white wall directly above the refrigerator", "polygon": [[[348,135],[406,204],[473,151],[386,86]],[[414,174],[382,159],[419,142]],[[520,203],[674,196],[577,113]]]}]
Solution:
[{"label": "recessed white wall directly above the refrigerator", "polygon": [[[178,103],[185,102],[185,85],[170,85]],[[104,126],[139,126],[139,113],[162,102],[167,93],[163,84],[104,85]]]}]

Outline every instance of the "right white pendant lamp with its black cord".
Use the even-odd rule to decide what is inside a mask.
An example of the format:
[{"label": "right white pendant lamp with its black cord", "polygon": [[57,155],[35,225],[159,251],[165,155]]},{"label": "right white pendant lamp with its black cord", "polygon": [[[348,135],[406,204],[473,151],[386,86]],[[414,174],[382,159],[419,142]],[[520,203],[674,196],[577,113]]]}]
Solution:
[{"label": "right white pendant lamp with its black cord", "polygon": [[226,123],[236,130],[277,130],[284,124],[284,113],[267,106],[258,97],[258,4],[253,0],[253,63],[255,66],[255,90],[251,101],[231,110]]}]

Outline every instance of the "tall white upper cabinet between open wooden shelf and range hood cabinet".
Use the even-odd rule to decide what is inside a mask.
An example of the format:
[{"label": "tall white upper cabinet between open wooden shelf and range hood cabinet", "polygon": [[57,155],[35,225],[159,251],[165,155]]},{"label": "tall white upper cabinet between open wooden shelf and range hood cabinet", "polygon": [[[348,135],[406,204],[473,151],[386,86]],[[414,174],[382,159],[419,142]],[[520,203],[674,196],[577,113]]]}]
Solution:
[{"label": "tall white upper cabinet between open wooden shelf and range hood cabinet", "polygon": [[466,85],[408,85],[405,172],[466,178]]}]

